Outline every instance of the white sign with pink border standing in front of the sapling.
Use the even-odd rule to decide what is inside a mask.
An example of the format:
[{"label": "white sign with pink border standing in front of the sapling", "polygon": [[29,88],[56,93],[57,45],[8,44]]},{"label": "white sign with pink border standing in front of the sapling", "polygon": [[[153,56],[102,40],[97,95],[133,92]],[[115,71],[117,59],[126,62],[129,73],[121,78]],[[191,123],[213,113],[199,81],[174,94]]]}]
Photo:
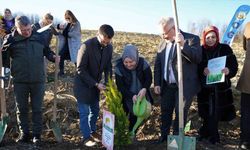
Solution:
[{"label": "white sign with pink border standing in front of the sapling", "polygon": [[103,110],[102,144],[107,148],[107,150],[113,150],[114,130],[115,130],[115,115],[109,111]]}]

